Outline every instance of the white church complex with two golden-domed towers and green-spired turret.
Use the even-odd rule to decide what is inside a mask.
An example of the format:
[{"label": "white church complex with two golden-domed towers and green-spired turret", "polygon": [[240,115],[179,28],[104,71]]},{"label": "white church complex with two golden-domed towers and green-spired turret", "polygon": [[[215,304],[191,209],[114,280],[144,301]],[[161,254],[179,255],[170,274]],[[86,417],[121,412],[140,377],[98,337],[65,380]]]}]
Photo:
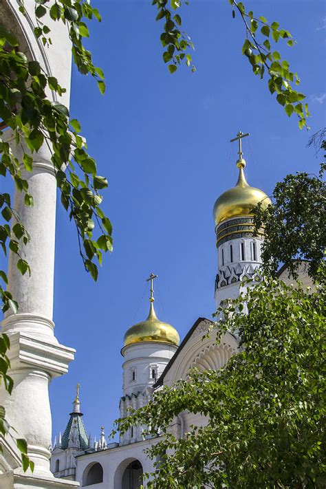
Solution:
[{"label": "white church complex with two golden-domed towers and green-spired turret", "polygon": [[[268,206],[270,199],[258,188],[248,184],[243,169],[246,166],[241,152],[239,132],[239,178],[237,184],[224,192],[215,202],[213,215],[218,252],[218,270],[215,281],[215,302],[235,298],[246,288],[245,277],[259,280],[261,243],[263,232],[253,237],[252,208],[258,202]],[[179,379],[186,379],[189,369],[219,369],[237,351],[237,339],[227,333],[216,343],[216,334],[203,339],[213,322],[198,318],[180,343],[175,327],[158,319],[154,310],[153,279],[149,315],[135,324],[124,335],[121,350],[122,397],[120,417],[128,409],[140,408],[149,400],[155,389],[162,385],[172,386]],[[200,415],[184,412],[175,419],[171,430],[177,437],[184,437],[191,425],[204,424]],[[143,472],[153,472],[153,461],[146,457],[144,449],[157,442],[157,438],[144,439],[141,426],[133,426],[120,436],[119,443],[109,443],[102,433],[98,441],[87,436],[80,412],[78,395],[73,403],[67,427],[54,442],[51,470],[55,477],[78,481],[80,486],[94,489],[138,489]]]}]

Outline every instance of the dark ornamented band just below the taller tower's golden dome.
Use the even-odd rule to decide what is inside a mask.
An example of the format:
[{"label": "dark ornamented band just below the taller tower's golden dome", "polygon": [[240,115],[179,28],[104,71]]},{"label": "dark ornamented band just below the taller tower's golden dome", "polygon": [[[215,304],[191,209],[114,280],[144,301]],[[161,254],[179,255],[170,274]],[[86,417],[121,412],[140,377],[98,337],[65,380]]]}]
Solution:
[{"label": "dark ornamented band just below the taller tower's golden dome", "polygon": [[[230,219],[217,225],[216,232],[216,245],[219,246],[230,239],[235,238],[250,238],[254,232],[254,218],[253,217],[237,217],[236,219]],[[258,238],[263,236],[263,228],[259,229]]]}]

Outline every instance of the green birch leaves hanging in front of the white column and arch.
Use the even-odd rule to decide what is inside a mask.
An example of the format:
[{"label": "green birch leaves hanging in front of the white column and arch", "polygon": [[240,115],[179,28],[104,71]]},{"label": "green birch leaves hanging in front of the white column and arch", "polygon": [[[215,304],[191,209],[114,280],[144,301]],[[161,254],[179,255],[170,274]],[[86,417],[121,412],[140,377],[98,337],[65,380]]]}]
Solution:
[{"label": "green birch leaves hanging in front of the white column and arch", "polygon": [[[27,14],[23,2],[19,10],[22,15]],[[89,36],[86,22],[94,17],[100,21],[98,10],[92,8],[87,0],[37,0],[35,17],[34,35],[49,49],[55,49],[55,46],[51,46],[51,29],[47,20],[51,18],[67,26],[74,63],[81,74],[95,78],[103,94],[105,81],[102,69],[94,65],[91,52],[83,45],[83,39]],[[111,222],[100,207],[100,192],[107,188],[107,179],[97,173],[96,162],[87,152],[86,140],[80,134],[78,120],[69,118],[67,107],[47,97],[47,93],[52,91],[54,98],[59,99],[66,89],[59,85],[55,76],[49,76],[38,61],[28,59],[21,52],[19,39],[6,25],[1,24],[0,73],[0,175],[12,177],[15,187],[24,195],[25,205],[32,206],[33,197],[28,193],[28,182],[22,176],[21,164],[26,171],[31,172],[34,154],[43,144],[47,144],[52,154],[57,186],[61,191],[61,203],[69,213],[69,219],[76,224],[80,256],[85,269],[96,280],[96,263],[102,264],[102,252],[112,250]],[[4,129],[11,130],[15,144],[21,146],[22,161],[17,159],[12,147],[3,138]],[[30,236],[12,207],[8,193],[0,194],[0,210],[3,218],[0,223],[2,251],[5,255],[8,250],[17,254],[17,268],[22,274],[30,274],[32,270],[24,259],[23,251]],[[10,229],[12,217],[17,224]],[[19,305],[10,291],[5,289],[8,284],[5,270],[0,270],[0,278],[3,283],[0,283],[2,310],[6,312],[11,308],[17,312]],[[10,362],[6,355],[9,347],[8,336],[3,335],[0,343],[0,376],[4,387],[11,393],[12,380],[7,375]],[[0,433],[5,435],[9,429],[6,412],[0,406]],[[17,446],[21,451],[24,470],[28,466],[33,468],[28,459],[25,440],[17,439]]]}]

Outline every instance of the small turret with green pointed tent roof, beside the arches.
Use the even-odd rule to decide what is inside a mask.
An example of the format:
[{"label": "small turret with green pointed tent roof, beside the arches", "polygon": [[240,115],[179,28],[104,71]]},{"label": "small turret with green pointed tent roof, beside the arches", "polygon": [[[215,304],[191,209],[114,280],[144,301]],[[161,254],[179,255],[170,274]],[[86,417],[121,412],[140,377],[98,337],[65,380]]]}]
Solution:
[{"label": "small turret with green pointed tent roof, beside the arches", "polygon": [[54,448],[51,456],[51,471],[55,477],[75,480],[77,455],[82,455],[89,447],[89,437],[87,436],[83,422],[83,413],[80,412],[79,400],[80,384],[76,386],[76,397],[72,403],[73,408],[70,413],[68,424],[58,441],[54,441]]}]

